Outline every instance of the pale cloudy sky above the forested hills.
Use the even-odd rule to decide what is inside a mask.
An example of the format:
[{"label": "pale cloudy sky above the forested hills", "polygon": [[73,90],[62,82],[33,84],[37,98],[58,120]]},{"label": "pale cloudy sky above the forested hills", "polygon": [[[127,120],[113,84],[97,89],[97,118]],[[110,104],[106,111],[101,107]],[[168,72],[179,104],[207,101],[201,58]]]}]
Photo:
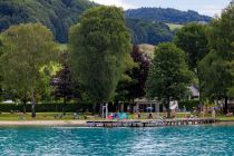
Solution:
[{"label": "pale cloudy sky above the forested hills", "polygon": [[140,7],[175,8],[179,10],[195,10],[202,14],[220,14],[231,0],[90,0],[101,4],[115,4],[124,9]]}]

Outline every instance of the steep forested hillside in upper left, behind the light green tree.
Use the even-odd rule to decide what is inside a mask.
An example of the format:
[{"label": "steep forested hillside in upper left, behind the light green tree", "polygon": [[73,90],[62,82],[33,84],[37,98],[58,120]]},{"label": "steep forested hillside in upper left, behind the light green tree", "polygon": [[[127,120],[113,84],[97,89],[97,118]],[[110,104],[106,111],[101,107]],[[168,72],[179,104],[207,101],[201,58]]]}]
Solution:
[{"label": "steep forested hillside in upper left, behind the light green tree", "polygon": [[68,29],[78,16],[95,6],[87,0],[1,0],[0,31],[11,25],[41,22],[60,42],[67,42]]}]

